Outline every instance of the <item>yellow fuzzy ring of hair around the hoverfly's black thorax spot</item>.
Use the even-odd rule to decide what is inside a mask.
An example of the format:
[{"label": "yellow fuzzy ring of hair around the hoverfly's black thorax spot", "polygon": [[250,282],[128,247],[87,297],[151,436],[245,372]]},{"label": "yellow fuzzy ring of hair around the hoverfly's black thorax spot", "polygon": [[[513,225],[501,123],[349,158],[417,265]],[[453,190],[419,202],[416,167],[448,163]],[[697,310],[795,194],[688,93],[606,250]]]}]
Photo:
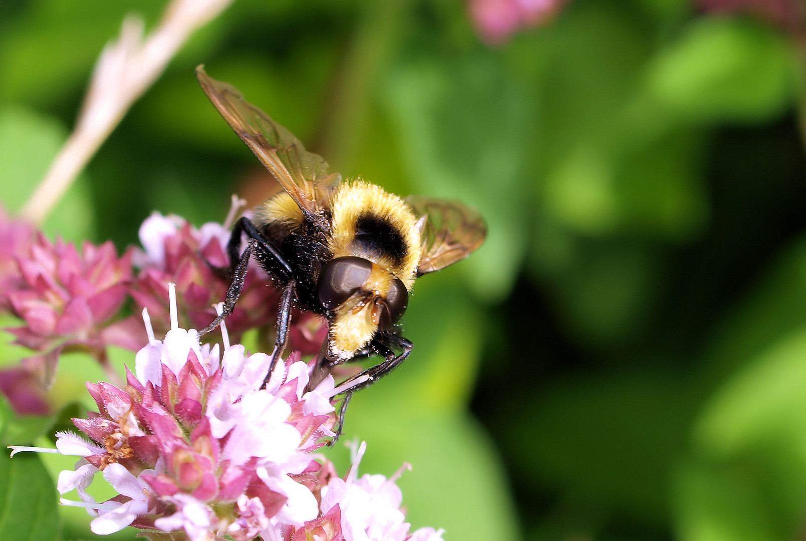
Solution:
[{"label": "yellow fuzzy ring of hair around the hoverfly's black thorax spot", "polygon": [[[329,247],[334,257],[359,256],[371,260],[388,270],[394,277],[403,282],[411,291],[414,278],[417,277],[417,265],[420,261],[420,231],[417,218],[409,206],[397,195],[389,194],[380,186],[364,181],[344,183],[334,194],[332,206],[333,232]],[[388,257],[365,253],[355,247],[355,223],[359,216],[370,211],[378,218],[391,224],[400,232],[406,252],[401,263]]]}]

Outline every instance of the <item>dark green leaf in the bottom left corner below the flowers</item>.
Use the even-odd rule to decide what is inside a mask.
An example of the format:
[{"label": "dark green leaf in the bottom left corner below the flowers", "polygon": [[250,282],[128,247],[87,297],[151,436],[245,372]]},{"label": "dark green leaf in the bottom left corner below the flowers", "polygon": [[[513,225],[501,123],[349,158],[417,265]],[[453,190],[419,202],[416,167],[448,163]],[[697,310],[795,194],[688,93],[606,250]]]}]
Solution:
[{"label": "dark green leaf in the bottom left corner below the flowers", "polygon": [[0,453],[0,539],[61,538],[56,487],[35,453]]}]

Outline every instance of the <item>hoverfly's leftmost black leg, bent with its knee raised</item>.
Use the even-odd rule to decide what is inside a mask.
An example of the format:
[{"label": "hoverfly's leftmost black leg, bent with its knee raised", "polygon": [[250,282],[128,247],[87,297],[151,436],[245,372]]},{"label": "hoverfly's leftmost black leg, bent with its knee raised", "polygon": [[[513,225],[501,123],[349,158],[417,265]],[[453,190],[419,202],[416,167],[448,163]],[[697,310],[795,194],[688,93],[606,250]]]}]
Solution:
[{"label": "hoverfly's leftmost black leg, bent with its knee raised", "polygon": [[[243,250],[243,253],[239,253],[244,233],[247,234],[247,247]],[[255,256],[255,259],[258,260],[260,266],[264,268],[269,276],[279,277],[283,281],[289,281],[292,276],[291,266],[288,261],[263,235],[260,235],[260,231],[257,231],[255,224],[251,223],[246,217],[240,218],[235,223],[226,250],[230,256],[231,282],[230,287],[226,290],[224,308],[210,325],[199,332],[200,336],[213,331],[215,327],[221,324],[224,318],[232,314],[235,303],[238,302],[243,291],[243,282],[247,277],[251,256]],[[286,327],[288,327],[288,323],[286,323]]]}]

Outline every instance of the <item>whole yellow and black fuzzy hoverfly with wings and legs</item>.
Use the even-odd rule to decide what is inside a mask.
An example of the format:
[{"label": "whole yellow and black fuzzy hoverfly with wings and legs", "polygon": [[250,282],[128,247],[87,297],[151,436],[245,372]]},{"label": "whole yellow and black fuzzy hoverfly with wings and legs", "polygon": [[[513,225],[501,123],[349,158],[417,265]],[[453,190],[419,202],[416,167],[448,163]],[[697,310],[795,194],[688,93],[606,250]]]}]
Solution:
[{"label": "whole yellow and black fuzzy hoverfly with wings and legs", "polygon": [[196,74],[218,112],[283,189],[254,209],[251,219],[235,223],[227,247],[231,285],[222,314],[201,334],[231,314],[254,257],[281,292],[269,374],[288,339],[293,306],[327,321],[309,389],[337,364],[372,355],[384,359],[340,386],[345,397],[338,438],[351,393],[397,368],[412,351],[396,324],[415,279],[479,248],[487,233],[484,219],[460,202],[404,200],[365,181],[342,181],[233,86],[215,81],[203,66]]}]

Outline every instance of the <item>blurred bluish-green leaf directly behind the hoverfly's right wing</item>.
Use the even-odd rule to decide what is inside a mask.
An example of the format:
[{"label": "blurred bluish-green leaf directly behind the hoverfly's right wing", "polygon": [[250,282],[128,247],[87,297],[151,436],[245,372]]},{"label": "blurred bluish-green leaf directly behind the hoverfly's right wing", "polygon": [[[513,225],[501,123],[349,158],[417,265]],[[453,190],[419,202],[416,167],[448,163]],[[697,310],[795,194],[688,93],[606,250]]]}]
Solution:
[{"label": "blurred bluish-green leaf directly behind the hoverfly's right wing", "polygon": [[480,297],[501,298],[526,243],[525,89],[486,54],[431,54],[394,70],[385,94],[413,191],[459,199],[487,220],[488,238],[465,268]]}]

